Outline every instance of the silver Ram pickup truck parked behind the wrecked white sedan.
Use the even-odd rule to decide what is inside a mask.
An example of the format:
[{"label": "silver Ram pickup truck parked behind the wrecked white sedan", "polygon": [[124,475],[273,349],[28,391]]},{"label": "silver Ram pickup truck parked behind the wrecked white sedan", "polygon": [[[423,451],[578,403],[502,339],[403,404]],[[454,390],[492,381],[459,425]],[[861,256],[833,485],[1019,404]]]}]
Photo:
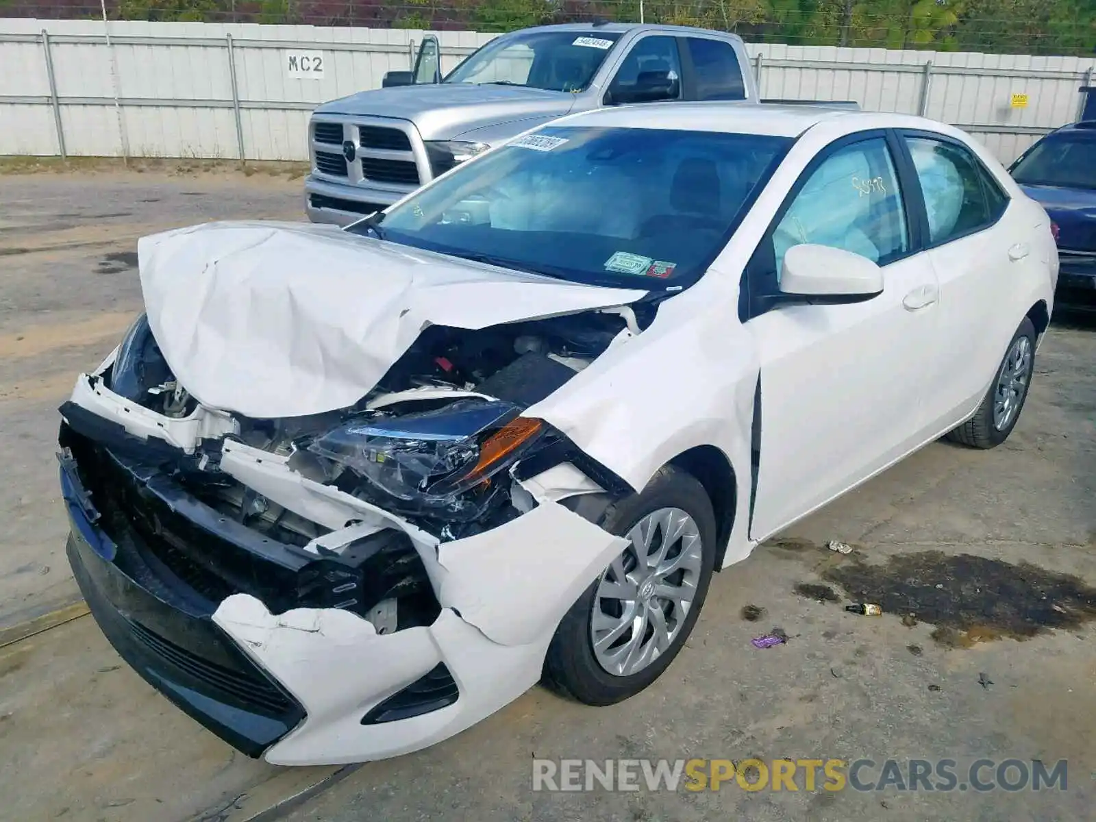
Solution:
[{"label": "silver Ram pickup truck parked behind the wrecked white sedan", "polygon": [[674,100],[792,102],[758,99],[745,45],[724,32],[633,23],[525,28],[492,39],[444,79],[437,39],[427,36],[412,71],[390,71],[384,88],[315,111],[305,207],[313,222],[347,225],[556,117]]}]

